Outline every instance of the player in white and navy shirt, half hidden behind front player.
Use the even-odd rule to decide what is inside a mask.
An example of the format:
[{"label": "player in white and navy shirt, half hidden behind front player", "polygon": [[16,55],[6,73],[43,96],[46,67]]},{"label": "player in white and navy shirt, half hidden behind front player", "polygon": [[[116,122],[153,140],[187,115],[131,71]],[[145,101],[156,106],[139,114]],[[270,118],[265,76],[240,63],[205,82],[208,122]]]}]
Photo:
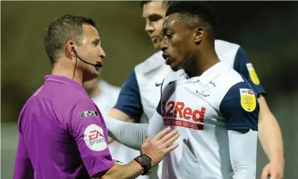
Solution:
[{"label": "player in white and navy shirt, half hidden behind front player", "polygon": [[[141,1],[141,6],[146,20],[145,31],[148,32],[154,48],[159,49],[161,40],[159,34],[165,19],[167,4],[161,1]],[[257,78],[252,63],[238,44],[215,40],[215,51],[221,61],[247,79],[260,102],[259,137],[270,159],[270,163],[263,170],[262,177],[266,178],[267,175],[271,175],[272,179],[283,178],[284,158],[281,132],[276,119],[269,111],[264,99],[264,88]],[[109,116],[121,121],[133,120],[135,122],[139,121],[142,113],[145,113],[148,119],[152,118],[160,100],[161,83],[170,71],[170,67],[163,60],[162,51],[158,51],[143,63],[135,66],[134,71],[125,81],[118,101]],[[129,146],[138,148],[139,140],[133,141]]]}]

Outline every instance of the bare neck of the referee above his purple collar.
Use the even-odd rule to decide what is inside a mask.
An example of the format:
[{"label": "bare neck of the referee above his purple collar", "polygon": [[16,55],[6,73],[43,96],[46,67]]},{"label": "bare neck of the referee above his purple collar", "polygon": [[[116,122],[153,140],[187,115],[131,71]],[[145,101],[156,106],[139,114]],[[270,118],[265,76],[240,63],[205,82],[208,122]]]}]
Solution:
[{"label": "bare neck of the referee above his purple collar", "polygon": [[71,78],[82,85],[83,73],[78,70],[78,68],[76,68],[76,72],[74,70],[74,66],[70,66],[69,64],[63,63],[62,61],[58,61],[52,69],[52,74],[58,76],[66,76],[67,78]]}]

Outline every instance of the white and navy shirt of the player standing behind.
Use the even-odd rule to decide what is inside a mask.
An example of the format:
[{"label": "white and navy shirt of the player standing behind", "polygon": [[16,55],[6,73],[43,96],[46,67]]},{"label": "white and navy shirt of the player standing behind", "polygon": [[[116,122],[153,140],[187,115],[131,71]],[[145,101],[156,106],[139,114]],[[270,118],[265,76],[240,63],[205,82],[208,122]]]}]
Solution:
[{"label": "white and navy shirt of the player standing behind", "polygon": [[[247,79],[257,96],[265,93],[243,48],[238,44],[215,40],[215,51],[221,61]],[[143,113],[149,120],[152,118],[160,101],[160,86],[163,78],[171,71],[170,66],[165,64],[162,54],[162,51],[158,51],[135,66],[125,81],[114,108],[135,118],[136,121],[140,121]],[[158,178],[160,177],[161,167],[158,167]]]}]

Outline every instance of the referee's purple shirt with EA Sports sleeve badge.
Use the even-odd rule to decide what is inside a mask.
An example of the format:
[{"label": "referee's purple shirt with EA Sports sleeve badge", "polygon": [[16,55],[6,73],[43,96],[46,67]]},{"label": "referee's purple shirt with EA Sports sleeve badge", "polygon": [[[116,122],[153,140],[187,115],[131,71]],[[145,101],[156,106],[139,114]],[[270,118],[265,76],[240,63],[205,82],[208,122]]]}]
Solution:
[{"label": "referee's purple shirt with EA Sports sleeve badge", "polygon": [[22,108],[18,129],[14,179],[91,178],[114,165],[100,111],[70,78],[45,76]]}]

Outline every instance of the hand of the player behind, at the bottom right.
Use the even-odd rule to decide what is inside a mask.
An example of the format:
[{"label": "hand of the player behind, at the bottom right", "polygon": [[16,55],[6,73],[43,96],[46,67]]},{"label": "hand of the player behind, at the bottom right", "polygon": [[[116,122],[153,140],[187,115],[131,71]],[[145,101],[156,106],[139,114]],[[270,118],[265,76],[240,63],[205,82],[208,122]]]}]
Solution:
[{"label": "hand of the player behind, at the bottom right", "polygon": [[284,178],[284,168],[278,163],[268,163],[262,172],[262,179],[283,179]]}]

